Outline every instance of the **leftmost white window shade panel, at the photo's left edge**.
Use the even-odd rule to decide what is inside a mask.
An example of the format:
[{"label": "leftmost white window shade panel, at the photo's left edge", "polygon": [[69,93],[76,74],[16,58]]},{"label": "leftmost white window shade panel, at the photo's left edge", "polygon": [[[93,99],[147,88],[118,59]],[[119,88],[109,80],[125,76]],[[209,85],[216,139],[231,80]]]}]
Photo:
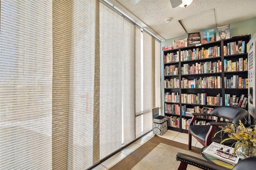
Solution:
[{"label": "leftmost white window shade panel, at the photo's left edge", "polygon": [[51,169],[52,2],[0,12],[0,169]]}]

